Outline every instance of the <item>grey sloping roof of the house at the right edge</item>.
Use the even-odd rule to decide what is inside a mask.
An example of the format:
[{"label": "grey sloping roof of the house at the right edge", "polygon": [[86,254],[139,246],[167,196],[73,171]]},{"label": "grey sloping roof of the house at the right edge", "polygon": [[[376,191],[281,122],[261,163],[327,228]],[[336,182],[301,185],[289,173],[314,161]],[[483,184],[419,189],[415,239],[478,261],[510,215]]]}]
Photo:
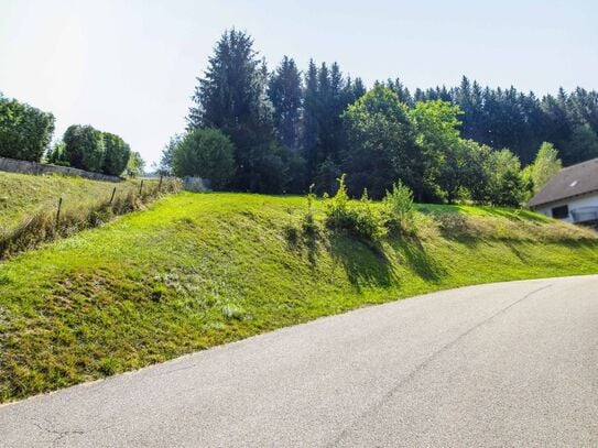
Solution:
[{"label": "grey sloping roof of the house at the right edge", "polygon": [[528,206],[537,207],[592,192],[598,193],[598,159],[561,170]]}]

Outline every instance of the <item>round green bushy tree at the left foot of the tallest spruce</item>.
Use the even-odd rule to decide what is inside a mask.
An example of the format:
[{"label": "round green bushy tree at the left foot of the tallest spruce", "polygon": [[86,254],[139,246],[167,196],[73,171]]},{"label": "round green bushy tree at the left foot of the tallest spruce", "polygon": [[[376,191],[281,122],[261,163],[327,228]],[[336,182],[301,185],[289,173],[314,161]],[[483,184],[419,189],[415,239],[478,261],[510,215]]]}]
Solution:
[{"label": "round green bushy tree at the left foot of the tallest spruce", "polygon": [[214,189],[225,188],[235,174],[235,146],[217,129],[195,129],[176,143],[172,168],[180,177],[198,176]]}]

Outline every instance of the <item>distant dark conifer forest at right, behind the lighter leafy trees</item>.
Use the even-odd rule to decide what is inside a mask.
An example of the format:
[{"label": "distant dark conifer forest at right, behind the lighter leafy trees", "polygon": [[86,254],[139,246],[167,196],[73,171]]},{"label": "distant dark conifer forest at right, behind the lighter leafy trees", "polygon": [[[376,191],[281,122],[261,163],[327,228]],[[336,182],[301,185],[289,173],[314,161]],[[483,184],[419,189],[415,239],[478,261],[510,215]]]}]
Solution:
[{"label": "distant dark conifer forest at right, behind the lighter leafy trees", "polygon": [[441,99],[459,106],[461,135],[492,147],[509,147],[529,164],[542,142],[558,147],[565,166],[598,157],[598,92],[577,87],[570,94],[563,88],[555,96],[539,98],[533,91],[514,87],[492,89],[464,77],[460,86],[445,86],[413,95],[399,79],[387,87],[401,101],[413,107],[417,101]]}]

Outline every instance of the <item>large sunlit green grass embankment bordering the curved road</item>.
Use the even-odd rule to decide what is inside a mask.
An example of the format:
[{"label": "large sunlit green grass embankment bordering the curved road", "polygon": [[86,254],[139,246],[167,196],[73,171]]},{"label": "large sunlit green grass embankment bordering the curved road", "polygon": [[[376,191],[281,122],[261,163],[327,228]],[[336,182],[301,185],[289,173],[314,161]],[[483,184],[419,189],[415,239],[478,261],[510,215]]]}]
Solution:
[{"label": "large sunlit green grass embankment bordering the curved road", "polygon": [[598,239],[531,212],[421,206],[417,237],[305,233],[306,199],[178,194],[0,264],[9,401],[414,294],[598,272]]}]

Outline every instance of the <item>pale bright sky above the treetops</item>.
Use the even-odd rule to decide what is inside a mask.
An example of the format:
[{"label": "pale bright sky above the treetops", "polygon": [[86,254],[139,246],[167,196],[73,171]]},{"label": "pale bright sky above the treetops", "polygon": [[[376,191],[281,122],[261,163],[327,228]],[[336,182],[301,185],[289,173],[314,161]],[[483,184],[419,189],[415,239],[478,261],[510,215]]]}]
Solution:
[{"label": "pale bright sky above the treetops", "polygon": [[154,162],[227,28],[272,68],[309,57],[410,88],[598,89],[598,0],[0,0],[0,91],[120,134]]}]

